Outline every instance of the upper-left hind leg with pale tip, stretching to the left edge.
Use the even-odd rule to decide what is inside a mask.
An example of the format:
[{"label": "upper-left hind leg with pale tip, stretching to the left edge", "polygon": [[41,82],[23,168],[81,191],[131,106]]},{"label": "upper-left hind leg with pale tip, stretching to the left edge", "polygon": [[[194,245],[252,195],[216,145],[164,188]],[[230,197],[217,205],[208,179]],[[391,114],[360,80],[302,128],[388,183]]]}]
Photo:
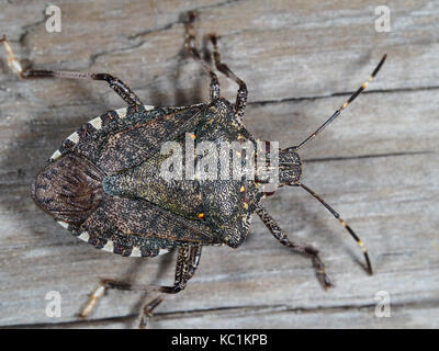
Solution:
[{"label": "upper-left hind leg with pale tip, stretching to the left edge", "polygon": [[9,66],[14,73],[22,79],[68,78],[103,80],[106,81],[110,84],[110,88],[113,89],[128,105],[142,105],[140,99],[138,99],[134,91],[116,77],[113,77],[109,73],[89,73],[65,70],[35,70],[32,68],[24,69],[20,64],[20,60],[14,56],[11,44],[4,35],[0,38],[0,43],[3,44],[3,47],[8,54]]}]

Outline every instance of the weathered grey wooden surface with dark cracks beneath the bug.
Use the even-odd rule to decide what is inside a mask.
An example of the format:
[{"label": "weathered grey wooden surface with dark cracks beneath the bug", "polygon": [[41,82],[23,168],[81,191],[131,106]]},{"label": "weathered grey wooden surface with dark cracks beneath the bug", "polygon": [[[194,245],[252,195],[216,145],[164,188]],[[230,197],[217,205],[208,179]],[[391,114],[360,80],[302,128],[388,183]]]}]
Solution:
[{"label": "weathered grey wooden surface with dark cracks beneath the bug", "polygon": [[[0,34],[36,67],[108,71],[143,101],[207,98],[207,78],[182,52],[184,12],[218,33],[224,61],[249,87],[246,123],[281,146],[302,141],[358,88],[376,81],[303,149],[304,182],[348,219],[375,269],[316,201],[286,189],[266,206],[292,239],[322,251],[336,287],[256,219],[237,250],[205,248],[188,288],[158,308],[153,328],[439,327],[439,7],[387,1],[392,32],[374,30],[375,1],[53,1],[63,32],[45,31],[44,1],[1,1]],[[202,39],[200,38],[200,43]],[[221,77],[222,94],[236,86]],[[80,124],[123,106],[104,83],[20,81],[0,52],[0,326],[135,327],[142,294],[110,292],[89,321],[75,315],[98,276],[169,284],[175,254],[122,258],[70,237],[30,199],[30,184]],[[60,318],[45,315],[48,291]],[[374,315],[375,293],[392,317]]]}]

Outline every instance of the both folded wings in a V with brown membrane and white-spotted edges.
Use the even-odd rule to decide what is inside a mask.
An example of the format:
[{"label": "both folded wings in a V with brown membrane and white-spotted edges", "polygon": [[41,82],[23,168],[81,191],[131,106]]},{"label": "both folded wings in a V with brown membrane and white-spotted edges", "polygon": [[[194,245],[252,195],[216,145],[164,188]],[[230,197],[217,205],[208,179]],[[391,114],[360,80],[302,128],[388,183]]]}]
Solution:
[{"label": "both folded wings in a V with brown membrane and white-spotted edges", "polygon": [[33,184],[33,199],[80,239],[124,256],[149,256],[191,244],[219,244],[209,226],[137,197],[105,193],[109,174],[130,169],[168,139],[191,131],[204,105],[117,110],[71,134]]}]

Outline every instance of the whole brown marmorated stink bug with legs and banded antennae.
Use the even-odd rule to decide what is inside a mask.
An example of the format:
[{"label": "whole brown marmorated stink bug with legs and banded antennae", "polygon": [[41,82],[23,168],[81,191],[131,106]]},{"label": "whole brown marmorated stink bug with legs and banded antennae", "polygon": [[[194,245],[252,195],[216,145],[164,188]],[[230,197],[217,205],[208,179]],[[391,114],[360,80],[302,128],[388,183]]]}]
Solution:
[{"label": "whole brown marmorated stink bug with legs and banded antennae", "polygon": [[[211,100],[181,107],[144,105],[128,86],[108,73],[23,69],[7,38],[3,36],[0,39],[9,56],[10,67],[21,78],[103,80],[128,105],[91,120],[65,139],[32,184],[35,203],[74,236],[98,249],[131,257],[156,257],[178,250],[172,286],[136,286],[115,280],[102,280],[80,313],[82,317],[90,315],[108,288],[156,292],[158,297],[147,303],[142,310],[139,326],[145,327],[154,308],[161,303],[162,293],[175,294],[185,287],[199,265],[202,247],[239,247],[248,235],[255,213],[282,245],[308,256],[323,286],[331,286],[318,251],[290,241],[261,205],[261,200],[275,190],[262,174],[273,170],[278,180],[277,188],[303,188],[341,223],[362,249],[368,270],[372,273],[368,252],[360,238],[336,211],[301,182],[302,162],[297,151],[338,117],[367,88],[386,56],[370,78],[309,137],[297,146],[271,148],[271,143],[258,140],[246,129],[243,123],[247,101],[246,83],[221,61],[217,39],[212,34],[210,41],[217,70],[239,86],[234,106],[219,98],[217,76],[203,60],[195,45],[194,18],[194,13],[189,13],[185,47],[211,77]],[[193,143],[192,146],[196,148],[210,143],[214,151],[207,148],[207,154],[194,152],[193,149],[184,152],[188,143]],[[250,148],[230,149],[225,146],[227,143],[241,147],[250,145]],[[168,154],[164,152],[165,145],[177,147],[172,149],[172,157],[169,157],[169,150]],[[182,174],[178,163],[169,163],[178,150],[183,150],[185,160],[192,158],[196,171],[188,177],[190,162],[185,161],[187,177],[167,179],[164,169],[171,174],[175,172],[175,176]],[[264,155],[264,161],[254,162],[259,154]],[[238,161],[223,167],[217,161],[218,155],[226,155],[226,159],[232,155]],[[213,168],[213,174],[217,176],[221,171],[229,176],[230,171],[239,177],[205,177],[205,166],[209,166],[206,160],[211,161],[210,170]],[[251,167],[247,167],[247,170],[254,172],[241,171],[241,167],[248,165]]]}]

